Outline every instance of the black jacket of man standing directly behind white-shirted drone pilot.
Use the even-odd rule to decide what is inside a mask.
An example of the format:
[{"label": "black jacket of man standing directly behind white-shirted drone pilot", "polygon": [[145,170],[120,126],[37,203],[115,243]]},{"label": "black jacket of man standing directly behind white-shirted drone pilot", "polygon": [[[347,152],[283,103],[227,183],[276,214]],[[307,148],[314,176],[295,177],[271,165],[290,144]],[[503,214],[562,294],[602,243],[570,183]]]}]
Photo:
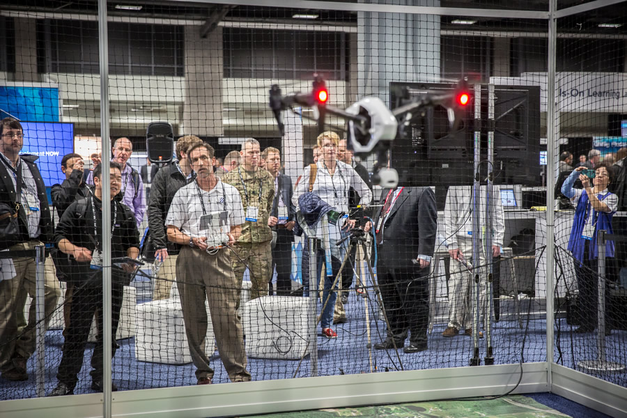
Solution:
[{"label": "black jacket of man standing directly behind white-shirted drone pilot", "polygon": [[148,201],[148,228],[155,249],[167,248],[170,254],[178,254],[179,246],[167,239],[165,219],[174,195],[189,181],[178,171],[176,164],[163,167],[153,178]]}]

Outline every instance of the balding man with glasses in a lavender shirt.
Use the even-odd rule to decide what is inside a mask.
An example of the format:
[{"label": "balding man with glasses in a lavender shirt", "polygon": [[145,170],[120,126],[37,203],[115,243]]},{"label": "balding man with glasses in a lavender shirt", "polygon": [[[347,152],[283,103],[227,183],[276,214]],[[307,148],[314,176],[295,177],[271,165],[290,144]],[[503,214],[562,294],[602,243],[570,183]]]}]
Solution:
[{"label": "balding man with glasses in a lavender shirt", "polygon": [[[116,139],[113,149],[113,159],[122,167],[122,203],[128,206],[135,215],[135,223],[139,228],[146,213],[146,197],[144,196],[144,182],[136,169],[127,164],[133,153],[133,144],[130,139],[121,137]],[[93,172],[87,178],[87,184],[93,185]]]}]

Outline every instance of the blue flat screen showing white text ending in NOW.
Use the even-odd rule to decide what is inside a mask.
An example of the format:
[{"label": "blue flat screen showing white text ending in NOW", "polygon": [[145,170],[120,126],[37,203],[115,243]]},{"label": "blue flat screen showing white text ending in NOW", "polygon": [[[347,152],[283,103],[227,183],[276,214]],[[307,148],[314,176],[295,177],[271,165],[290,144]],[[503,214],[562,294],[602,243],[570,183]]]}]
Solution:
[{"label": "blue flat screen showing white text ending in NOW", "polygon": [[38,157],[36,164],[46,187],[65,180],[61,172],[63,155],[74,152],[74,124],[55,122],[20,122],[24,146],[20,154]]}]

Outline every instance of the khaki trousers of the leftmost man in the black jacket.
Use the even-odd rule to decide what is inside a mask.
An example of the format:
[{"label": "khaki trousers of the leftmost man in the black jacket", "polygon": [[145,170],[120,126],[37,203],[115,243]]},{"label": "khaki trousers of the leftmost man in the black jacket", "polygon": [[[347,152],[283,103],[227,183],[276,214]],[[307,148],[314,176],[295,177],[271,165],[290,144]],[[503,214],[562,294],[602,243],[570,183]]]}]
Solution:
[{"label": "khaki trousers of the leftmost man in the black jacket", "polygon": [[[10,251],[33,250],[41,242],[31,240],[10,247]],[[0,371],[12,368],[11,360],[17,356],[28,359],[35,352],[36,334],[36,265],[34,257],[13,258],[15,277],[0,281]],[[44,278],[45,327],[48,326],[56,302],[61,295],[59,281],[54,274],[52,263],[46,263]],[[17,321],[24,311],[26,295],[33,302],[29,309],[29,322],[22,332],[17,332]],[[19,313],[19,314],[18,314]]]}]

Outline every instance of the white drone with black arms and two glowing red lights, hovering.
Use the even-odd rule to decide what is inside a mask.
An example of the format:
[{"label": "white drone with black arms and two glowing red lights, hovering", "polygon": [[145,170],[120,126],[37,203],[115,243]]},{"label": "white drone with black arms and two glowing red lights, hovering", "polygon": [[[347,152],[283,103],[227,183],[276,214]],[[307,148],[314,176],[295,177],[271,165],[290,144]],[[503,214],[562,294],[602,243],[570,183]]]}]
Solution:
[{"label": "white drone with black arms and two glowing red lights, hovering", "polygon": [[[425,114],[426,109],[442,106],[447,109],[449,129],[457,130],[465,114],[465,106],[471,101],[467,82],[462,79],[451,91],[427,91],[420,95],[410,95],[408,89],[401,95],[401,106],[394,110],[387,108],[377,97],[369,96],[351,104],[346,109],[339,109],[327,104],[330,97],[325,81],[320,75],[314,74],[314,82],[309,93],[292,93],[282,95],[278,84],[270,88],[270,109],[277,120],[281,136],[285,134],[282,112],[291,109],[302,118],[316,121],[318,133],[325,131],[327,114],[338,116],[346,121],[346,144],[359,157],[367,157],[376,153],[373,184],[382,187],[396,187],[398,173],[388,167],[389,150],[397,137],[404,137],[405,130],[415,116]],[[314,117],[306,116],[294,109],[295,106],[307,107],[317,111]]]}]

